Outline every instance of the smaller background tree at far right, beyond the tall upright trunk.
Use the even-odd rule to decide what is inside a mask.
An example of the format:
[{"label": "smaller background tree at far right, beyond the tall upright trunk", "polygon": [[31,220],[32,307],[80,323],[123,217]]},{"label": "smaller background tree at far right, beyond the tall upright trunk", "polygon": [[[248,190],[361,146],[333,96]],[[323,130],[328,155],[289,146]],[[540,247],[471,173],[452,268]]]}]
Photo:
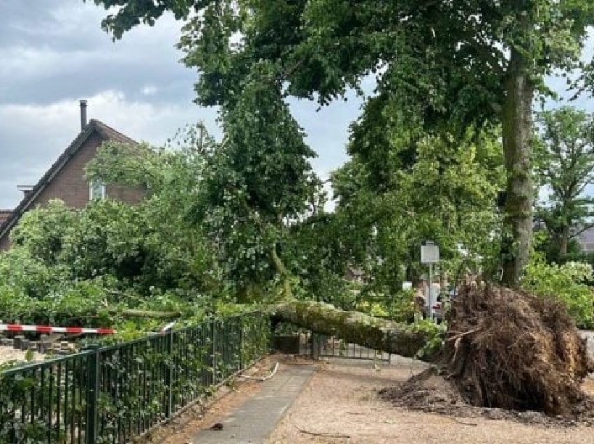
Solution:
[{"label": "smaller background tree at far right, beyond the tall upright trunk", "polygon": [[594,117],[563,107],[540,113],[537,121],[535,173],[547,195],[537,217],[555,247],[551,259],[563,261],[570,240],[594,226],[594,199],[585,193],[594,183]]}]

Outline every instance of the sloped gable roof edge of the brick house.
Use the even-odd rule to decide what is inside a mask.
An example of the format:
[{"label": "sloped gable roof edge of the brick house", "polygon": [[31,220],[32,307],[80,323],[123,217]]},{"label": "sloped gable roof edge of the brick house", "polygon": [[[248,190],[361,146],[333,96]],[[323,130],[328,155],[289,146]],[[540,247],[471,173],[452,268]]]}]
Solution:
[{"label": "sloped gable roof edge of the brick house", "polygon": [[0,239],[10,232],[10,229],[19,221],[20,217],[26,212],[29,207],[35,202],[36,198],[45,189],[51,180],[57,175],[64,165],[78,152],[78,150],[85,145],[87,139],[93,134],[98,133],[103,140],[113,140],[114,142],[126,143],[129,145],[137,145],[136,140],[129,138],[127,135],[115,131],[115,129],[104,124],[103,122],[91,119],[85,129],[68,145],[64,152],[57,158],[45,175],[39,179],[39,182],[31,189],[27,195],[20,201],[19,205],[8,215],[7,219],[1,223],[0,219]]}]

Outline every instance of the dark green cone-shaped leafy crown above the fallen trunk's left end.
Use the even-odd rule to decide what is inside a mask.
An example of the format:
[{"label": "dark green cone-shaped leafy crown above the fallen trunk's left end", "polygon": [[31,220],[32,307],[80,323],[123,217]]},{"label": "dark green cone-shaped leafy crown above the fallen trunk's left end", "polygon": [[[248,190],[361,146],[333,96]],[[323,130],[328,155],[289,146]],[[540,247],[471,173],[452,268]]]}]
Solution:
[{"label": "dark green cone-shaped leafy crown above the fallen trunk's left end", "polygon": [[[319,205],[314,152],[282,99],[270,64],[254,66],[222,112],[224,141],[205,152],[193,217],[216,242],[239,288],[289,279],[282,258],[287,225]],[[286,288],[287,290],[287,288]]]}]

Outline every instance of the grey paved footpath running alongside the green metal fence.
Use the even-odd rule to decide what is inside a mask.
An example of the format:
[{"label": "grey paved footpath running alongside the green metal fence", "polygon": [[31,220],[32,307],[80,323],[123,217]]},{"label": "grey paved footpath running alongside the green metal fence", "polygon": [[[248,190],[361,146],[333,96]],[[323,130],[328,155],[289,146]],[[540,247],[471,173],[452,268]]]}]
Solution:
[{"label": "grey paved footpath running alongside the green metal fence", "polygon": [[195,444],[263,444],[314,373],[311,365],[291,365],[262,383],[261,390],[221,420],[221,430],[201,430]]}]

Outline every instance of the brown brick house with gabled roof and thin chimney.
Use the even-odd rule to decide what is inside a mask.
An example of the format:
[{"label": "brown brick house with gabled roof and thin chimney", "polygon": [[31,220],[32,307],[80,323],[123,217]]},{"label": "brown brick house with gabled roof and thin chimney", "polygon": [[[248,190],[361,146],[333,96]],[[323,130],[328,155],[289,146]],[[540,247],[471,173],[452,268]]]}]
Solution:
[{"label": "brown brick house with gabled roof and thin chimney", "polygon": [[10,230],[17,225],[22,214],[43,206],[49,200],[61,199],[68,207],[82,208],[95,198],[109,197],[136,203],[145,195],[141,188],[89,184],[85,179],[85,165],[103,142],[120,142],[131,147],[136,145],[134,140],[101,121],[91,119],[87,123],[86,106],[86,101],[80,101],[80,134],[35,186],[22,189],[24,197],[14,210],[0,210],[0,251],[10,246]]}]

